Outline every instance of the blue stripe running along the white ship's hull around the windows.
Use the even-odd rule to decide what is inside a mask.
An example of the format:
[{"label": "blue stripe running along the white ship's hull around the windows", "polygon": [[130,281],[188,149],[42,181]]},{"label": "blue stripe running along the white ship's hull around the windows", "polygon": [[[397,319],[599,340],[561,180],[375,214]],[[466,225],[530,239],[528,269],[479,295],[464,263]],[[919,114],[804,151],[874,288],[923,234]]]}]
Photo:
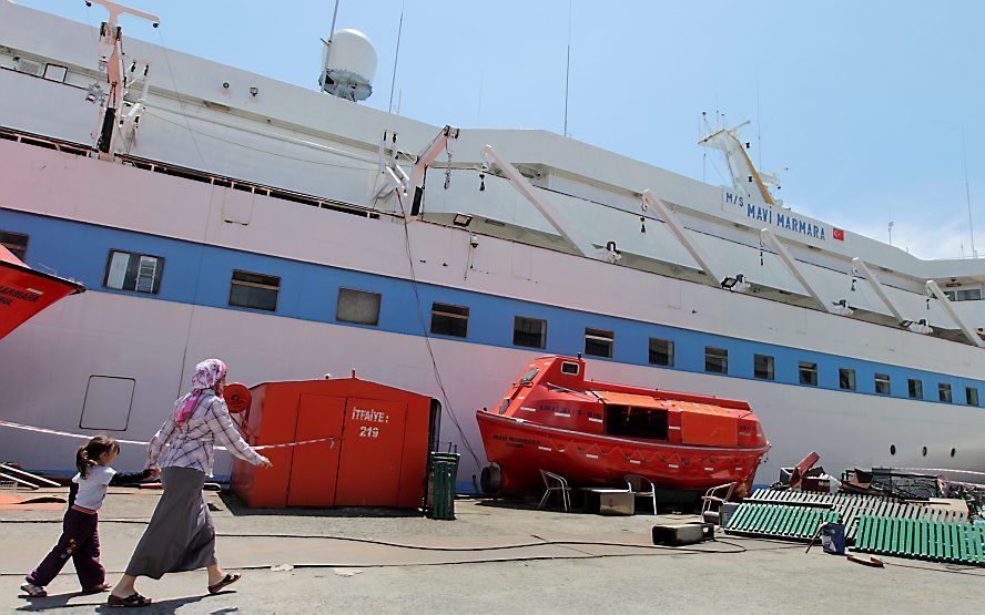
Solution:
[{"label": "blue stripe running along the white ship's hull around the windows", "polygon": [[[54,269],[58,275],[79,279],[85,284],[90,291],[115,293],[151,300],[236,309],[264,315],[272,314],[229,305],[232,271],[233,269],[244,269],[281,278],[281,293],[275,312],[277,316],[395,334],[423,335],[420,322],[415,314],[415,299],[410,283],[404,279],[27,214],[2,207],[0,207],[0,230],[29,235],[27,253],[29,265],[44,271]],[[111,249],[163,257],[164,267],[160,294],[144,295],[105,288],[103,278]],[[335,308],[341,287],[379,293],[383,297],[379,325],[366,327],[336,321]],[[940,402],[937,399],[937,385],[943,382],[952,387],[953,403],[963,404],[965,387],[976,387],[982,390],[985,386],[985,381],[982,380],[431,284],[418,284],[418,291],[425,324],[430,321],[433,301],[469,307],[468,338],[447,338],[466,344],[536,350],[512,345],[514,317],[526,316],[547,320],[547,347],[544,352],[550,353],[575,355],[582,351],[585,328],[592,327],[611,330],[616,334],[612,359],[599,360],[648,366],[649,338],[673,340],[674,367],[651,366],[656,369],[704,372],[704,347],[713,346],[729,350],[729,373],[723,376],[729,378],[752,380],[753,355],[759,353],[775,358],[775,380],[773,381],[783,385],[837,391],[840,390],[839,368],[854,369],[859,389],[842,391],[847,394],[875,394],[908,399],[907,379],[917,378],[923,382],[924,401],[948,403]],[[616,299],[618,298],[613,297],[613,300]],[[799,361],[810,361],[818,365],[816,387],[799,383]],[[875,392],[875,373],[890,376],[891,396]]]}]

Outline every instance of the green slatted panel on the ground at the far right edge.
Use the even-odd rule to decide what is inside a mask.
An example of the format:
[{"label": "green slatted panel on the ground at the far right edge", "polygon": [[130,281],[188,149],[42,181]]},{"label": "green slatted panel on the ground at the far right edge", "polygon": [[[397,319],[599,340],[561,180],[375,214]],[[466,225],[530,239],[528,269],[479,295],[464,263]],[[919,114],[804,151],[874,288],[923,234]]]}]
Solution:
[{"label": "green slatted panel on the ground at the far right edge", "polygon": [[852,551],[985,566],[985,527],[922,519],[863,515]]}]

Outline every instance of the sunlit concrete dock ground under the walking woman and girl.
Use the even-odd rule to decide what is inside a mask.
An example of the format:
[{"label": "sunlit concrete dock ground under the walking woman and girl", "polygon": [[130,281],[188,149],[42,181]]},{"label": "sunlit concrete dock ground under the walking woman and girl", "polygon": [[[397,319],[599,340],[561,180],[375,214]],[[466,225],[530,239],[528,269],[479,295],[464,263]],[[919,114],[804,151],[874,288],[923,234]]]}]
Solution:
[{"label": "sunlit concrete dock ground under the walking woman and girl", "polygon": [[[24,491],[0,493],[24,495]],[[65,490],[31,492],[65,495]],[[100,513],[102,561],[119,578],[160,491],[110,490]],[[243,580],[217,595],[205,573],[143,578],[148,613],[295,612],[978,612],[985,570],[885,558],[870,568],[820,547],[719,534],[654,547],[657,522],[459,500],[456,521],[398,511],[244,509],[210,493],[220,563]],[[60,531],[63,505],[0,510],[0,609],[102,612],[81,595],[71,564],[49,596],[27,598],[23,575]]]}]

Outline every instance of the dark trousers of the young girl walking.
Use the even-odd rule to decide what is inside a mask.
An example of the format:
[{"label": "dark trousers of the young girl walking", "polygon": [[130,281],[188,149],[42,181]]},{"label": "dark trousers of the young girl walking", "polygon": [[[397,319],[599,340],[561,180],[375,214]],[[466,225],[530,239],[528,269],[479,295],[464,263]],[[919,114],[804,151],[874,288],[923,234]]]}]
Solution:
[{"label": "dark trousers of the young girl walking", "polygon": [[99,563],[99,515],[75,508],[65,511],[62,535],[51,553],[44,557],[34,572],[27,576],[28,583],[44,587],[51,583],[62,567],[72,560],[75,574],[83,590],[102,585],[106,570]]}]

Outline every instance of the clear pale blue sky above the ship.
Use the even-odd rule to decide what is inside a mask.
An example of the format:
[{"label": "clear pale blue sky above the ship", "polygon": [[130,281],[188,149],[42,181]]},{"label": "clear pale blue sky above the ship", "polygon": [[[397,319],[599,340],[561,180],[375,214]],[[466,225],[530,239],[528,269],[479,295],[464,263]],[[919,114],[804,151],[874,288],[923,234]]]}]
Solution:
[{"label": "clear pale blue sky above the ship", "polygon": [[[82,0],[18,2],[103,19]],[[129,3],[162,24],[128,19],[124,35],[317,86],[333,0]],[[364,31],[379,53],[367,101],[379,109],[402,6],[403,115],[562,132],[568,0],[343,0],[337,27]],[[936,258],[971,252],[964,131],[985,255],[983,22],[985,3],[956,0],[573,0],[569,132],[700,180],[700,113],[752,120],[752,158],[789,167],[780,194],[794,209],[883,240],[893,219],[894,245]],[[724,182],[711,152],[704,176]]]}]

